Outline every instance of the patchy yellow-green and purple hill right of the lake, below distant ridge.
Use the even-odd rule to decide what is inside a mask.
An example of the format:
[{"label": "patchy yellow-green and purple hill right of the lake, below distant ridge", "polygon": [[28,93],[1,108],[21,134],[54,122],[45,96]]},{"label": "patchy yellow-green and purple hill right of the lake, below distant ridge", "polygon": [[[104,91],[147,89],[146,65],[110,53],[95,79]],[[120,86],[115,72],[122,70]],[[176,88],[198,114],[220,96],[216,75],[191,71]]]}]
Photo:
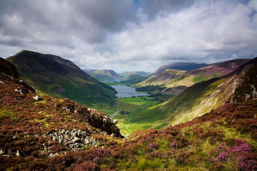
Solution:
[{"label": "patchy yellow-green and purple hill right of the lake, below distant ridge", "polygon": [[163,85],[167,87],[167,89],[164,90],[165,93],[174,93],[173,90],[176,89],[176,87],[185,88],[202,81],[227,75],[248,61],[250,61],[250,59],[229,60],[192,71],[167,69],[150,77],[148,80],[139,83],[138,85]]}]

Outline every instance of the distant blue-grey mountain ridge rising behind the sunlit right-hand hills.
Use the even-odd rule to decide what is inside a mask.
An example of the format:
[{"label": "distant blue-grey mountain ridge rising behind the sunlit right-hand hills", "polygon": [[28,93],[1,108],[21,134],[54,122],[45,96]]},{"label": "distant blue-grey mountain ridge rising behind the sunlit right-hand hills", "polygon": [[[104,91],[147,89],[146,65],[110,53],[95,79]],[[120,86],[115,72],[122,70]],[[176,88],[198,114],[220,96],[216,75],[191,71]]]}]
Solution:
[{"label": "distant blue-grey mountain ridge rising behind the sunlit right-hand hills", "polygon": [[156,71],[153,72],[152,75],[159,74],[160,72],[167,70],[167,69],[174,69],[174,70],[182,70],[182,71],[191,71],[196,70],[199,68],[207,67],[208,64],[197,64],[197,63],[188,63],[188,62],[175,62],[168,65],[163,65],[159,67]]}]

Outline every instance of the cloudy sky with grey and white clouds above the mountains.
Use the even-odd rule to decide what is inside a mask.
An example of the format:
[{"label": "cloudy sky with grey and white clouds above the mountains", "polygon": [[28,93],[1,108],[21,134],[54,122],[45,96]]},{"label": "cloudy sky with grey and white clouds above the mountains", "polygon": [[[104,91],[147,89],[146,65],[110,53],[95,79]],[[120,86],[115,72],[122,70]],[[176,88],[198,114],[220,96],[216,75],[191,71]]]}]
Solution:
[{"label": "cloudy sky with grey and white clouds above the mountains", "polygon": [[0,57],[23,49],[117,73],[254,58],[257,0],[0,0]]}]

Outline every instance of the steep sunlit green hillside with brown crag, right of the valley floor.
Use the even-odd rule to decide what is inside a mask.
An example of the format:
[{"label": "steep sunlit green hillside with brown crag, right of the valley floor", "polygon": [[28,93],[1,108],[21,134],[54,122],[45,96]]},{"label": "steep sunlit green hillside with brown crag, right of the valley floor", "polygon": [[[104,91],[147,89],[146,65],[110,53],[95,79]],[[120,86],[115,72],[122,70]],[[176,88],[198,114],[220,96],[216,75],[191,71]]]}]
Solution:
[{"label": "steep sunlit green hillside with brown crag, right of the valley floor", "polygon": [[[226,102],[255,99],[257,96],[257,58],[242,65],[229,75],[203,81],[154,107],[138,110],[129,122],[146,128],[163,128],[169,124],[190,121]],[[143,127],[144,128],[144,127]]]}]

